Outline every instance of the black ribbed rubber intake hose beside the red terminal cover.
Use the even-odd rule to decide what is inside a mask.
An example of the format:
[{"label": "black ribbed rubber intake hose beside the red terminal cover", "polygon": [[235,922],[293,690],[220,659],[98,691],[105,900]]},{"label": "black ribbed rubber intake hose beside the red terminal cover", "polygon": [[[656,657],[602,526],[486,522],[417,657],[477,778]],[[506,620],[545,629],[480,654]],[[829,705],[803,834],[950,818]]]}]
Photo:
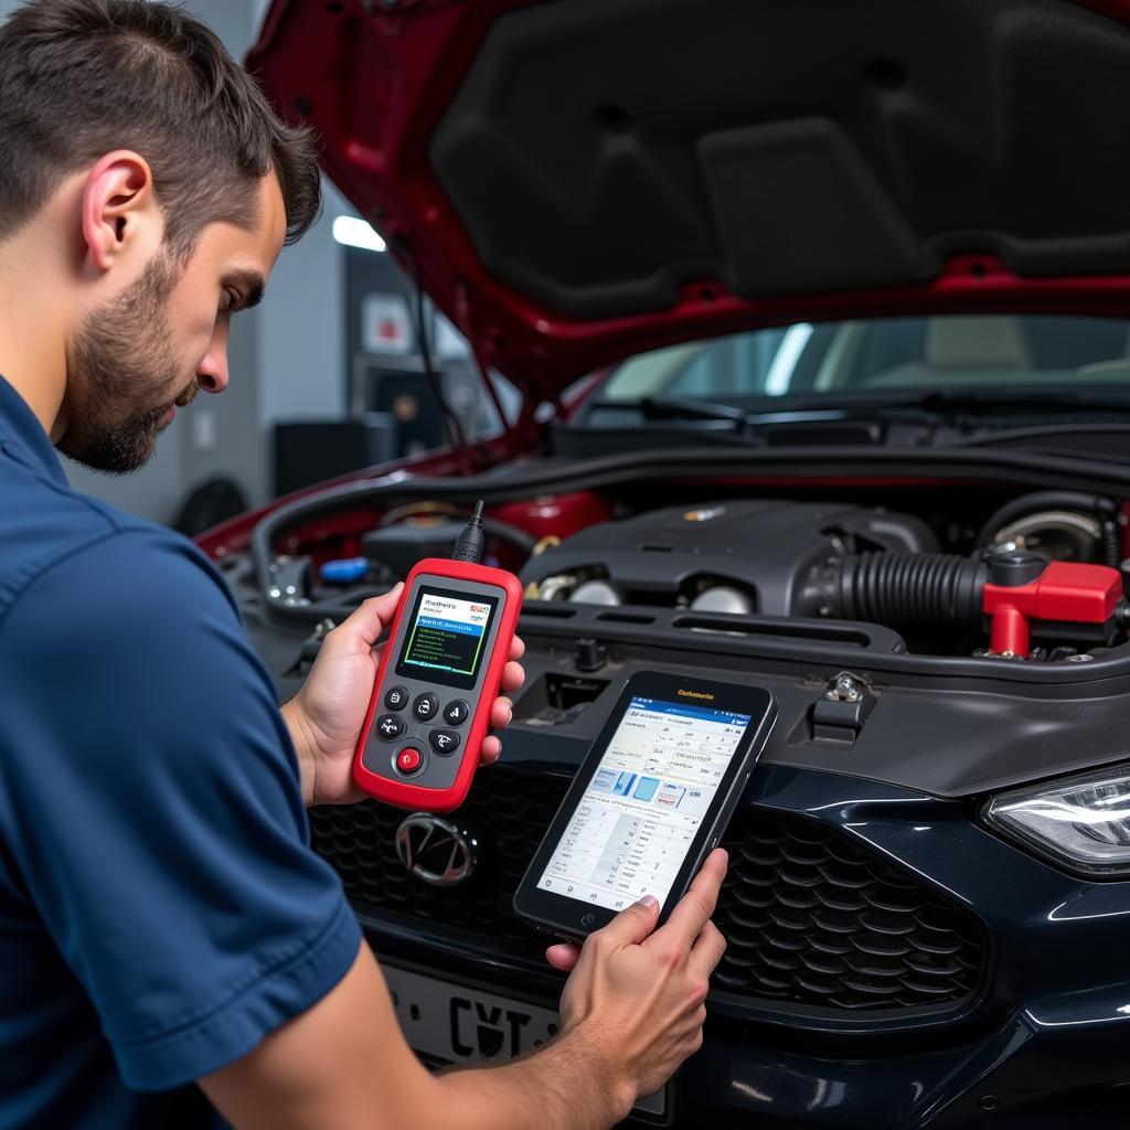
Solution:
[{"label": "black ribbed rubber intake hose beside the red terminal cover", "polygon": [[860,554],[840,574],[843,615],[895,627],[975,627],[988,566],[953,554]]}]

